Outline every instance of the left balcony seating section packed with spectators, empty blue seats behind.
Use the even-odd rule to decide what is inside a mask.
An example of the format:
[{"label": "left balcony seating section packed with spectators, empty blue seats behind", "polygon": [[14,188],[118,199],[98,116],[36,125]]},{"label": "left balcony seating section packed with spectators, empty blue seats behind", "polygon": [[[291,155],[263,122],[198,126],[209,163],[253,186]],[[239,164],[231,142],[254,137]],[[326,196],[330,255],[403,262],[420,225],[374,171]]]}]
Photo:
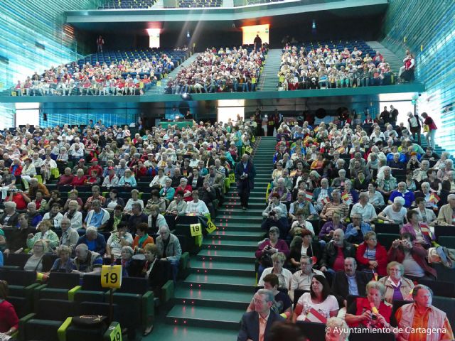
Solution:
[{"label": "left balcony seating section packed with spectators, empty blue seats behind", "polygon": [[93,53],[18,80],[11,95],[144,94],[188,56],[187,50],[155,48]]}]

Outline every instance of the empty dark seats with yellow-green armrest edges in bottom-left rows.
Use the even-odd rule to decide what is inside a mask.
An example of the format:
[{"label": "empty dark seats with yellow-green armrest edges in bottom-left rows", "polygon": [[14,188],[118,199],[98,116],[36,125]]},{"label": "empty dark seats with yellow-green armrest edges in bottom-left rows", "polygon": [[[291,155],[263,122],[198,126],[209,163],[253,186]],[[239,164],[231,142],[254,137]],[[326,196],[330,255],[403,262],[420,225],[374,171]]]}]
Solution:
[{"label": "empty dark seats with yellow-green armrest edges in bottom-left rows", "polygon": [[[18,340],[57,341],[61,335],[68,341],[82,337],[104,340],[106,323],[95,329],[84,328],[70,319],[79,315],[109,317],[109,289],[102,288],[100,276],[86,275],[81,280],[79,274],[56,272],[43,284],[37,281],[34,271],[22,271],[20,266],[0,268],[0,279],[9,283],[8,301],[20,319]],[[112,320],[128,328],[129,336],[141,334],[154,323],[154,309],[159,301],[149,291],[145,278],[123,278],[122,288],[114,290]]]}]

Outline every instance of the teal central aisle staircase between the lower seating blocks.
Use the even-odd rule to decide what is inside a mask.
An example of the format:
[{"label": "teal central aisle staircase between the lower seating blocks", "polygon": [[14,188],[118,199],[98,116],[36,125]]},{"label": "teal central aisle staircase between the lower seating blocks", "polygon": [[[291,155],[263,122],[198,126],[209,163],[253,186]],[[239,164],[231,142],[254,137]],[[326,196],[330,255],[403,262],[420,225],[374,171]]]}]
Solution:
[{"label": "teal central aisle staircase between the lower seating blocks", "polygon": [[[205,237],[201,251],[191,259],[191,274],[176,288],[173,308],[166,316],[166,323],[175,325],[173,332],[168,337],[154,332],[154,337],[235,340],[242,313],[255,293],[255,250],[264,236],[261,213],[275,144],[273,137],[259,139],[252,159],[257,175],[249,209],[242,211],[231,185],[215,220],[218,231]],[[211,337],[204,339],[205,335]]]}]

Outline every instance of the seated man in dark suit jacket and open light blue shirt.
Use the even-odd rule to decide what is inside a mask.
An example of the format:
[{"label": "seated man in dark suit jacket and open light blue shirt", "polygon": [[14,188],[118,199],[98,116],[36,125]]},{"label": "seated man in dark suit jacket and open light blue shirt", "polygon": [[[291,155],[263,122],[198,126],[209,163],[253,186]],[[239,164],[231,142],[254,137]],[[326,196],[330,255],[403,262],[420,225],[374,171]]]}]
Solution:
[{"label": "seated man in dark suit jacket and open light blue shirt", "polygon": [[365,286],[373,278],[373,273],[356,271],[356,269],[357,262],[354,258],[348,257],[344,260],[344,271],[337,271],[333,277],[332,293],[340,306],[346,306],[349,295],[366,295]]}]

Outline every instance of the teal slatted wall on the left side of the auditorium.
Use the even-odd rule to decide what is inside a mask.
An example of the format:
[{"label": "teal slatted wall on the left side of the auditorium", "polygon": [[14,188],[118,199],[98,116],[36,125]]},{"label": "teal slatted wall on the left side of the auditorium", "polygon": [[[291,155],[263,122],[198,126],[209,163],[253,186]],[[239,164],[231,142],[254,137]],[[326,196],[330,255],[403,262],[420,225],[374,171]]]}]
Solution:
[{"label": "teal slatted wall on the left side of the auditorium", "polygon": [[[0,1],[0,92],[33,72],[80,58],[65,11],[96,9],[100,0]],[[78,53],[79,52],[79,53]],[[0,104],[1,124],[14,124],[14,106]]]}]

